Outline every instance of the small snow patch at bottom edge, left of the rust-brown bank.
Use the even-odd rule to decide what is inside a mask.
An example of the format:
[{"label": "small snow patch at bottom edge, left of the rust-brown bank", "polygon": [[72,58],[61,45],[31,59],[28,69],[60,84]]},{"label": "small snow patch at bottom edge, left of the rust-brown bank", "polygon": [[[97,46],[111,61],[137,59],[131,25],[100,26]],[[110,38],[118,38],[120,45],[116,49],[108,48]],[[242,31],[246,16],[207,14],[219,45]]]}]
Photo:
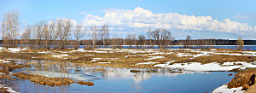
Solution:
[{"label": "small snow patch at bottom edge, left of the rust-brown bank", "polygon": [[[214,89],[212,93],[243,93],[245,90],[241,90],[242,87],[228,89],[228,85],[223,84],[222,86]],[[236,92],[234,92],[236,90]]]}]

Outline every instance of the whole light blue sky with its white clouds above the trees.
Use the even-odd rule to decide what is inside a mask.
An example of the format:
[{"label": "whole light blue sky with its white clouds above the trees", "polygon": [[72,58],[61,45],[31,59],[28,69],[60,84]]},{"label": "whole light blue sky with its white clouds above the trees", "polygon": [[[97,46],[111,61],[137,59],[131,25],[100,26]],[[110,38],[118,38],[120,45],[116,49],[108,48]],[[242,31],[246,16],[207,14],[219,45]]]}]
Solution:
[{"label": "whole light blue sky with its white clouds above the trees", "polygon": [[[256,39],[255,0],[0,0],[0,8],[1,21],[4,13],[19,9],[20,28],[36,24],[39,20],[68,18],[87,26],[101,26],[107,22],[109,26],[115,27],[111,32],[119,33],[143,34],[148,27],[153,26],[169,29],[177,39],[183,39],[186,35],[192,38],[236,39],[241,36]],[[122,17],[124,14],[129,16]],[[130,17],[132,19],[128,19]],[[156,20],[152,20],[154,17]],[[125,22],[119,24],[111,21],[123,19],[126,19]],[[160,19],[170,21],[155,22]],[[145,21],[150,25],[137,24]]]}]

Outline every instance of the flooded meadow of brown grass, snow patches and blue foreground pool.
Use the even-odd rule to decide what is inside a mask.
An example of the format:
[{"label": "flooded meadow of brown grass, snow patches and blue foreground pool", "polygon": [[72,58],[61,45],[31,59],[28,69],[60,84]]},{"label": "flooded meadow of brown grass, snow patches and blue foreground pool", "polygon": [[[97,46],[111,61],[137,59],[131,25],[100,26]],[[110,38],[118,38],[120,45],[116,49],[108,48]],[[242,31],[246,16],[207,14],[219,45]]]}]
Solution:
[{"label": "flooded meadow of brown grass, snow patches and blue foreground pool", "polygon": [[256,52],[230,49],[9,48],[0,55],[3,89],[21,93],[212,92],[256,67]]}]

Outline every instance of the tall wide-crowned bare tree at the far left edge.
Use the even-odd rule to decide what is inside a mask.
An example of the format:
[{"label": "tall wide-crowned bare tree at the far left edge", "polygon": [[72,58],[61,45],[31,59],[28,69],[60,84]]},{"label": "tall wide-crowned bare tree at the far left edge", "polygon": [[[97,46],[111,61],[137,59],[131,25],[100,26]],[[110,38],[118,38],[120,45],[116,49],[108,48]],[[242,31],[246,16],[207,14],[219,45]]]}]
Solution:
[{"label": "tall wide-crowned bare tree at the far left edge", "polygon": [[[10,47],[16,47],[16,36],[18,35],[20,26],[20,13],[19,11],[13,10],[12,12],[8,12],[3,16],[2,22],[2,32],[3,32],[3,42],[8,42]],[[5,44],[7,47],[8,44]]]}]

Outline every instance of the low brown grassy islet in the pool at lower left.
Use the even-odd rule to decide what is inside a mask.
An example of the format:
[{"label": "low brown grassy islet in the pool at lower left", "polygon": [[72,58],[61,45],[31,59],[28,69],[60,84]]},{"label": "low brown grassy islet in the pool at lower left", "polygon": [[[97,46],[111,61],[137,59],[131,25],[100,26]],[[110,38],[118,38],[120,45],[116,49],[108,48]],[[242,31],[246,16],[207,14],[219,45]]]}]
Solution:
[{"label": "low brown grassy islet in the pool at lower left", "polygon": [[79,81],[75,82],[71,78],[49,78],[49,77],[44,77],[40,75],[34,75],[34,74],[27,74],[27,73],[12,73],[12,75],[22,78],[22,79],[29,79],[32,82],[35,82],[37,84],[44,84],[44,85],[49,85],[49,86],[60,86],[64,84],[72,84],[72,83],[78,83],[78,84],[84,84],[88,86],[94,85],[92,82],[84,82],[84,81]]}]

